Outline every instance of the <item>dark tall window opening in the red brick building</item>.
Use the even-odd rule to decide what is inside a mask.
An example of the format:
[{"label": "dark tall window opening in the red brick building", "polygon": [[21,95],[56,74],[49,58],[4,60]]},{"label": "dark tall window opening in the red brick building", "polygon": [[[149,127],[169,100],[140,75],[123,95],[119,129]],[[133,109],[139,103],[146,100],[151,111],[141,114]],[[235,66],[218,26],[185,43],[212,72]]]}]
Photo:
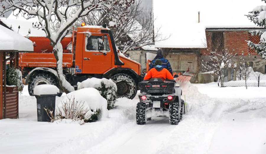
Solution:
[{"label": "dark tall window opening in the red brick building", "polygon": [[223,32],[212,32],[212,51],[222,51],[224,49]]}]

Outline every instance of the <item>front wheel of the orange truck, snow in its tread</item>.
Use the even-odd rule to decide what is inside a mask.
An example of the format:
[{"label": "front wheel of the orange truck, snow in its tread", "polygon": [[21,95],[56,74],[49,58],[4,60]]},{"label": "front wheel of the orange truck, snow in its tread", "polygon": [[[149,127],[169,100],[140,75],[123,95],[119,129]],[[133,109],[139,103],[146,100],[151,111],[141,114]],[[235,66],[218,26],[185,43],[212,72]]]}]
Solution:
[{"label": "front wheel of the orange truck, snow in its tread", "polygon": [[117,86],[116,95],[118,98],[126,97],[133,99],[137,94],[137,85],[135,80],[128,74],[118,73],[111,77]]}]

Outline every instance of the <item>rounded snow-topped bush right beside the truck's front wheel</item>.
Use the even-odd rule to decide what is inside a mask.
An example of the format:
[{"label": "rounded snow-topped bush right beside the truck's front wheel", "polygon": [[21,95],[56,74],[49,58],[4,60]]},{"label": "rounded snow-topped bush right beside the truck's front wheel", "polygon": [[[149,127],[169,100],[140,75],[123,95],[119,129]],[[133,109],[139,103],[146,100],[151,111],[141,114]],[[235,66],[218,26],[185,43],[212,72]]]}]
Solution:
[{"label": "rounded snow-topped bush right beside the truck's front wheel", "polygon": [[108,110],[112,109],[116,103],[116,84],[111,79],[98,79],[98,78],[90,78],[82,82],[77,83],[78,89],[82,88],[95,88],[100,94],[107,100]]}]

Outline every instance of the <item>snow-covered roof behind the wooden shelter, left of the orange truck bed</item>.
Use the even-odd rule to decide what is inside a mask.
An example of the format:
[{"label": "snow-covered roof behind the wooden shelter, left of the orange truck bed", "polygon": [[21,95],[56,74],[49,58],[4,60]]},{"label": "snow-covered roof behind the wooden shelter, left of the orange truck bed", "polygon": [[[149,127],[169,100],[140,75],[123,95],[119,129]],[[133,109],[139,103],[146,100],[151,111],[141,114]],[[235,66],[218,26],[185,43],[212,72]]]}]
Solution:
[{"label": "snow-covered roof behind the wooden shelter, left of the orange truck bed", "polygon": [[0,18],[0,20],[6,24],[8,27],[11,27],[12,25],[12,30],[14,30],[15,32],[17,32],[19,30],[19,26],[20,26],[20,30],[18,31],[18,33],[22,36],[26,36],[28,35],[28,31],[30,29],[30,34],[28,36],[46,36],[45,32],[41,29],[38,28],[33,28],[32,23],[36,22],[37,20],[26,20],[25,18],[18,18],[16,19],[12,14],[8,17],[8,18]]}]

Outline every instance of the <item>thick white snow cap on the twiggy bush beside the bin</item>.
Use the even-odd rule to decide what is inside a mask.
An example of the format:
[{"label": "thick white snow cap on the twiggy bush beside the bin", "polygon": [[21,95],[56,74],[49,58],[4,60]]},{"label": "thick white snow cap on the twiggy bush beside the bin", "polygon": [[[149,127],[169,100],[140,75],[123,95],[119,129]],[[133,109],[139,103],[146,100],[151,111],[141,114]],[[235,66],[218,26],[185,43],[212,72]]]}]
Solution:
[{"label": "thick white snow cap on the twiggy bush beside the bin", "polygon": [[100,118],[107,118],[108,117],[108,110],[107,110],[107,100],[104,99],[98,90],[95,88],[83,88],[80,90],[73,91],[65,95],[61,102],[57,102],[56,106],[59,109],[62,108],[62,102],[69,101],[69,98],[75,98],[77,103],[83,103],[85,108],[90,109],[87,113],[87,116],[90,116],[93,112],[97,112],[100,110]]}]

